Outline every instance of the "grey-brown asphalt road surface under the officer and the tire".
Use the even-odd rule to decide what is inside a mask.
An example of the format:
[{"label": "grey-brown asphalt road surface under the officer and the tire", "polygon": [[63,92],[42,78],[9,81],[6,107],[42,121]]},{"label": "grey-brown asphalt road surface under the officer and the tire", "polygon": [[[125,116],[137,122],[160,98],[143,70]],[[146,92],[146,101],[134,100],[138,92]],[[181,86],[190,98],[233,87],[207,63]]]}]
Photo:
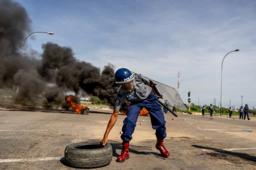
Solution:
[{"label": "grey-brown asphalt road surface under the officer and the tire", "polygon": [[[1,170],[74,170],[63,164],[67,145],[100,142],[111,110],[89,115],[68,112],[0,111]],[[154,148],[150,118],[139,117],[130,142],[130,158],[115,162],[121,151],[119,115],[109,134],[112,161],[98,170],[255,170],[256,120],[224,116],[165,114],[169,158]],[[242,131],[250,129],[252,132]]]}]

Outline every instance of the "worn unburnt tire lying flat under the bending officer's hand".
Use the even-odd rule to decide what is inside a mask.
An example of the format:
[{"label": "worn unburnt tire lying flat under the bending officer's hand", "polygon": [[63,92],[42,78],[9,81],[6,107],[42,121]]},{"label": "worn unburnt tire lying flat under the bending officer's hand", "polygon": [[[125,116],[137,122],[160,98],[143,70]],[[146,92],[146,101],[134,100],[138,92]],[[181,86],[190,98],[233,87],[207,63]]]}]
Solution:
[{"label": "worn unburnt tire lying flat under the bending officer's hand", "polygon": [[73,168],[98,168],[112,161],[112,147],[106,144],[103,148],[98,142],[81,142],[67,145],[64,153],[64,164]]}]

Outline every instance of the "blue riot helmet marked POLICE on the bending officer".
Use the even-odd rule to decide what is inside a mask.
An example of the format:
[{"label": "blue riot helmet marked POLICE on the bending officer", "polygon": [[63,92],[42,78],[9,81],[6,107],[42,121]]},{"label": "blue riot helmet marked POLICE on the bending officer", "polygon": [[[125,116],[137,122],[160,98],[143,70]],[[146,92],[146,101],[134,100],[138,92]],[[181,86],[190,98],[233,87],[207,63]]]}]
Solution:
[{"label": "blue riot helmet marked POLICE on the bending officer", "polygon": [[123,84],[132,81],[134,79],[134,75],[126,68],[119,68],[115,72],[114,78],[116,84]]}]

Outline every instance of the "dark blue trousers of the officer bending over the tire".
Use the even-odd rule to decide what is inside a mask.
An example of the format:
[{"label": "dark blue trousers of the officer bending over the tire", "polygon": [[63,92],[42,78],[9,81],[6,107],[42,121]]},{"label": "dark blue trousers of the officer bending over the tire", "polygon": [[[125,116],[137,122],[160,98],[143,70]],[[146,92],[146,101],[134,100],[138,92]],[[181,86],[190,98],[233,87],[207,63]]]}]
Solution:
[{"label": "dark blue trousers of the officer bending over the tire", "polygon": [[139,112],[142,108],[146,108],[149,113],[152,128],[155,130],[155,136],[158,139],[164,139],[166,137],[165,121],[160,104],[157,101],[157,97],[150,93],[149,96],[139,102],[131,102],[128,107],[127,117],[123,120],[121,139],[124,142],[128,142],[132,139]]}]

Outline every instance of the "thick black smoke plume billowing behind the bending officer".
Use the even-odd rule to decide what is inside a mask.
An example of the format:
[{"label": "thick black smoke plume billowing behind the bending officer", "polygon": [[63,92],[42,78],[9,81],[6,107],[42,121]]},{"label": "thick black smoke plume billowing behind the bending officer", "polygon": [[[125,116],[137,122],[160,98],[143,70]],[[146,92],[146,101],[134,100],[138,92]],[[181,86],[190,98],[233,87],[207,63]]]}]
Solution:
[{"label": "thick black smoke plume billowing behind the bending officer", "polygon": [[78,61],[69,47],[47,42],[43,53],[28,56],[20,52],[24,38],[31,33],[26,10],[12,0],[0,0],[0,95],[28,106],[65,107],[66,92],[87,94],[113,105],[116,89],[114,66],[101,71]]}]

